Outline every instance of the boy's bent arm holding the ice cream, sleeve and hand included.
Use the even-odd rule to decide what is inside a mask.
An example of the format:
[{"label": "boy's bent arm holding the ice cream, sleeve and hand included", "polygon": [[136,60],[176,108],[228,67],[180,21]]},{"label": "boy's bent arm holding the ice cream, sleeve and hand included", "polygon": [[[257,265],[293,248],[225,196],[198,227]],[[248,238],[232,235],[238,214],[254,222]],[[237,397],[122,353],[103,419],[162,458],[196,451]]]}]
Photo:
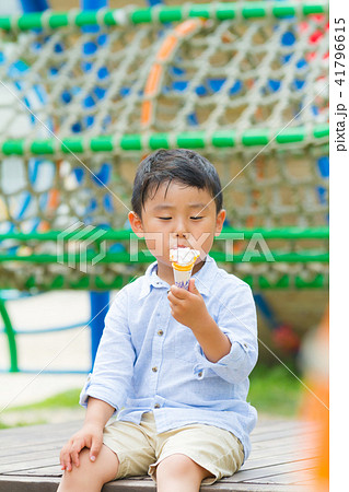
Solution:
[{"label": "boy's bent arm holding the ice cream, sleeve and hand included", "polygon": [[211,368],[230,383],[245,379],[257,361],[257,323],[249,288],[239,288],[220,304],[218,324],[190,279],[189,290],[172,285],[168,301],[173,317],[189,327],[198,340],[198,373]]}]

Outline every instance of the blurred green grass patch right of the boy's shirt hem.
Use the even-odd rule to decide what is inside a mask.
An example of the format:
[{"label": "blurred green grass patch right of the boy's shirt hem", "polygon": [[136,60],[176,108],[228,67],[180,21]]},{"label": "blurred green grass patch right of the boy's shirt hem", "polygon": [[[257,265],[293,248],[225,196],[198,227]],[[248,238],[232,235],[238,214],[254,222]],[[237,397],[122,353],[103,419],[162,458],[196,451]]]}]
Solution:
[{"label": "blurred green grass patch right of the boy's shirt hem", "polygon": [[[291,371],[296,374],[294,367],[291,367]],[[257,364],[249,382],[247,401],[258,412],[275,417],[296,417],[303,386],[283,365],[269,367]]]}]

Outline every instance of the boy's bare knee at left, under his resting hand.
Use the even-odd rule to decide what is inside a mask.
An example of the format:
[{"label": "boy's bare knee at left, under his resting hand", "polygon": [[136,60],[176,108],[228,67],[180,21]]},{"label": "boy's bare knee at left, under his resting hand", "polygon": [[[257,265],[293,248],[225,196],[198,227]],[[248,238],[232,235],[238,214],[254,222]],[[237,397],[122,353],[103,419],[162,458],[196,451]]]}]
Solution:
[{"label": "boy's bare knee at left, under his resting hand", "polygon": [[65,471],[57,492],[100,492],[104,483],[116,477],[119,460],[114,452],[103,444],[96,460],[90,460],[90,449],[81,450],[80,466]]}]

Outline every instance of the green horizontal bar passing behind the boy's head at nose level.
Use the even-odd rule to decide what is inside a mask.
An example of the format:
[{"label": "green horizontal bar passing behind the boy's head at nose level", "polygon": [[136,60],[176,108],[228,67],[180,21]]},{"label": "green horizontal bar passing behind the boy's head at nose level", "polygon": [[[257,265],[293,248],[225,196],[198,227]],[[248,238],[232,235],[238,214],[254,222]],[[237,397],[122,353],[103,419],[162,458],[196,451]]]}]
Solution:
[{"label": "green horizontal bar passing behind the boy's head at nose level", "polygon": [[[59,237],[65,233],[63,239],[84,239],[90,238],[95,235],[96,231],[103,231],[97,227],[93,230],[78,230],[70,233],[65,233],[65,231],[49,231],[45,233],[32,232],[32,233],[20,233],[10,232],[7,234],[0,234],[0,241],[4,239],[15,239],[19,242],[27,241],[58,241]],[[224,227],[220,236],[216,239],[237,239],[241,234],[244,234],[244,239],[251,239],[254,234],[261,234],[265,239],[328,239],[329,229],[324,227],[313,227],[313,229],[302,229],[302,227],[282,227],[282,229],[233,229]],[[239,235],[237,237],[235,237]],[[138,236],[131,231],[125,230],[106,230],[98,238],[98,241],[128,241],[137,239]],[[142,239],[139,239],[142,241]]]}]

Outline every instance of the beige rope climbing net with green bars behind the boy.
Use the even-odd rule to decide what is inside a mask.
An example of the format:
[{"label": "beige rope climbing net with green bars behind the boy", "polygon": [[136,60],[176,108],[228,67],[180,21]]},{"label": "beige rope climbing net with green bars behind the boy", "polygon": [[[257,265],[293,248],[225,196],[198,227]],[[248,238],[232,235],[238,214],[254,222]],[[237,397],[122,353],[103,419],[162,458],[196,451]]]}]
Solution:
[{"label": "beige rope climbing net with green bars behind the boy", "polygon": [[[235,230],[326,229],[326,8],[310,3],[305,15],[298,2],[258,5],[0,19],[0,285],[103,289],[137,274],[125,256],[88,272],[55,255],[45,262],[39,255],[57,253],[57,241],[16,234],[127,227],[136,166],[158,148],[193,148],[211,160]],[[326,284],[326,233],[274,246],[311,256],[230,268],[266,285],[284,276],[288,286]]]}]

